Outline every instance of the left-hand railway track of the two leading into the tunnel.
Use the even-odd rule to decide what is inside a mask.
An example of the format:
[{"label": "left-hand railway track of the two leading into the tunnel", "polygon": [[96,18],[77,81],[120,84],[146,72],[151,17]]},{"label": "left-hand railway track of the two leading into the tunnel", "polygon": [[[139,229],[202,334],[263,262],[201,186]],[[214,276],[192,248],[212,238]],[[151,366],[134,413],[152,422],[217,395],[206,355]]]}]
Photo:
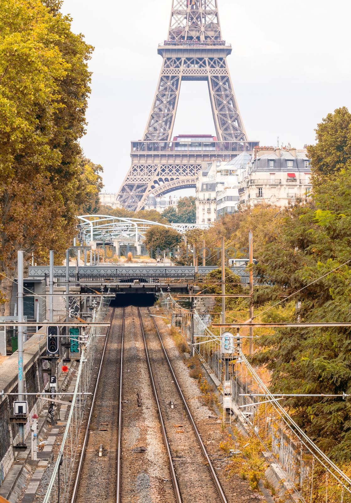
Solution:
[{"label": "left-hand railway track of the two leading into the tunnel", "polygon": [[[116,316],[116,311],[120,316]],[[122,334],[122,337],[121,337]],[[113,309],[91,403],[71,503],[115,503],[124,309]],[[114,483],[113,483],[114,481]]]}]

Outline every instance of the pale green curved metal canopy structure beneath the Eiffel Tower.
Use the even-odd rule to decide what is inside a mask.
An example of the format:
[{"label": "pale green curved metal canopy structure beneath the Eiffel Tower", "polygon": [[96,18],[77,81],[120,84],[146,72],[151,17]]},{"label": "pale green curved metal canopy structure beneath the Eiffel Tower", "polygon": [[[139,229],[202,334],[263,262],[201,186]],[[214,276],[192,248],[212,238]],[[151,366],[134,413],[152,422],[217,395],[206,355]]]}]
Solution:
[{"label": "pale green curved metal canopy structure beneath the Eiffel Tower", "polygon": [[184,234],[189,229],[205,229],[206,224],[195,223],[170,223],[163,224],[143,220],[141,218],[121,218],[110,215],[81,215],[79,220],[80,240],[89,243],[90,241],[112,241],[113,239],[123,239],[126,241],[143,241],[145,233],[154,225],[176,229]]}]

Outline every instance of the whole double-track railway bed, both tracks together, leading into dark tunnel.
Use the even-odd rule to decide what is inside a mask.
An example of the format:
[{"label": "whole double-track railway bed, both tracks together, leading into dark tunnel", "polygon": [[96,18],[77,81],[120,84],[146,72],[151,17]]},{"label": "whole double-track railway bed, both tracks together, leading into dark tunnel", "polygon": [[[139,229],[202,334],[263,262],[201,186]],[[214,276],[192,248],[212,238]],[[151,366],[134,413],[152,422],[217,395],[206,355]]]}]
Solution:
[{"label": "whole double-track railway bed, both tracks together, leading into dark tunnel", "polygon": [[71,503],[90,501],[227,503],[157,325],[132,306],[112,311],[93,394]]}]

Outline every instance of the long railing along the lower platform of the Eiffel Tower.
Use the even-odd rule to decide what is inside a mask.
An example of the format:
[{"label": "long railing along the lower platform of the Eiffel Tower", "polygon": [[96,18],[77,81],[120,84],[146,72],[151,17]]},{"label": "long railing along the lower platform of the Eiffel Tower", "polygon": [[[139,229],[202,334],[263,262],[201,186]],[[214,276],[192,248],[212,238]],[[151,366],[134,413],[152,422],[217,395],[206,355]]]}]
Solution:
[{"label": "long railing along the lower platform of the Eiffel Tower", "polygon": [[132,141],[132,154],[141,153],[184,153],[252,152],[258,141]]}]

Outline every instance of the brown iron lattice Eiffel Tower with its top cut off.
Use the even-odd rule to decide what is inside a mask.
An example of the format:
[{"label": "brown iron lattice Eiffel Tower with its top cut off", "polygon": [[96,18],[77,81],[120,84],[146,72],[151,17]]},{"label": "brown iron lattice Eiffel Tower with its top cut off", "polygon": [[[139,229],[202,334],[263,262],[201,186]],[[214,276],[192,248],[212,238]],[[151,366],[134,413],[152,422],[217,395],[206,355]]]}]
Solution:
[{"label": "brown iron lattice Eiffel Tower with its top cut off", "polygon": [[[172,0],[168,38],[158,47],[163,64],[155,99],[143,140],[132,141],[132,166],[117,198],[126,209],[142,209],[151,193],[195,187],[203,162],[229,161],[258,145],[247,141],[226,62],[230,53],[217,0]],[[182,80],[207,81],[216,131],[211,142],[172,141]]]}]

